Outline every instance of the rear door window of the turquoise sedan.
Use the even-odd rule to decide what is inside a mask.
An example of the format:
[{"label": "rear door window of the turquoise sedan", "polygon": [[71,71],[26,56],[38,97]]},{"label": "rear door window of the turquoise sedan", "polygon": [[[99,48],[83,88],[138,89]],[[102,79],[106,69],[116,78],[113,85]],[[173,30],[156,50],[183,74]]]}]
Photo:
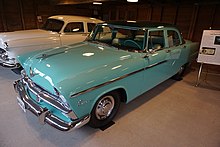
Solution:
[{"label": "rear door window of the turquoise sedan", "polygon": [[168,45],[169,45],[169,47],[180,45],[180,38],[179,38],[179,35],[176,31],[168,30],[167,34],[168,34]]}]

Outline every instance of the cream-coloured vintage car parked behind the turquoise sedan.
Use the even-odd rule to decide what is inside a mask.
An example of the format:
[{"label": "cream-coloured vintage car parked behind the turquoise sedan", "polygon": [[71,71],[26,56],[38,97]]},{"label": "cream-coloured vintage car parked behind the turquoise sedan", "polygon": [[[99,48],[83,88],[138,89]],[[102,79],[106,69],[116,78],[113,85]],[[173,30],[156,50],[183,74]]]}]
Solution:
[{"label": "cream-coloured vintage car parked behind the turquoise sedan", "polygon": [[16,61],[19,54],[82,42],[100,22],[89,17],[57,15],[49,17],[42,29],[0,33],[0,65],[16,69],[20,67]]}]

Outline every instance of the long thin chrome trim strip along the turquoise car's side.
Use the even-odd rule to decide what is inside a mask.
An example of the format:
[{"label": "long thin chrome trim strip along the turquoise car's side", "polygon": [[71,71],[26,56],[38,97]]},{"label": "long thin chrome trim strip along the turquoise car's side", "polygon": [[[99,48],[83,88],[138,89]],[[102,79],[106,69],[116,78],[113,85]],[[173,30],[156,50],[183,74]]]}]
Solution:
[{"label": "long thin chrome trim strip along the turquoise car's side", "polygon": [[74,98],[74,97],[77,97],[77,96],[79,96],[79,95],[81,95],[81,94],[84,94],[84,93],[93,91],[93,90],[98,89],[98,88],[100,88],[100,87],[102,87],[102,86],[111,84],[111,83],[113,83],[113,82],[115,82],[115,81],[124,79],[124,78],[126,78],[126,77],[128,77],[128,76],[134,75],[134,74],[136,74],[136,73],[139,73],[139,72],[141,72],[141,71],[147,70],[147,69],[152,68],[152,67],[154,67],[154,66],[163,64],[163,63],[165,63],[165,62],[167,62],[167,60],[164,60],[164,61],[161,61],[161,62],[158,62],[158,63],[151,64],[151,65],[149,65],[149,66],[147,66],[147,67],[144,67],[144,68],[142,68],[142,69],[136,70],[136,71],[131,72],[131,73],[128,73],[128,74],[123,75],[123,76],[121,76],[121,77],[118,77],[118,78],[115,78],[115,79],[111,79],[110,81],[107,81],[107,82],[105,82],[105,83],[102,83],[102,84],[96,85],[96,86],[94,86],[94,87],[91,87],[91,88],[89,88],[89,89],[86,89],[86,90],[77,92],[77,93],[75,93],[75,94],[72,94],[72,95],[70,96],[70,98]]}]

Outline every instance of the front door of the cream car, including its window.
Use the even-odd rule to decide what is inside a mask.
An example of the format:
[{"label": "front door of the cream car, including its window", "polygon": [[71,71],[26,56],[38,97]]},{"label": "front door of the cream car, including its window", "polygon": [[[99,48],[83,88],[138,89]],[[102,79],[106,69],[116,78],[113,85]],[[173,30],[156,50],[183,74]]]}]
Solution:
[{"label": "front door of the cream car, including its window", "polygon": [[68,45],[77,42],[82,42],[87,37],[86,27],[83,22],[70,22],[60,34],[61,44]]}]

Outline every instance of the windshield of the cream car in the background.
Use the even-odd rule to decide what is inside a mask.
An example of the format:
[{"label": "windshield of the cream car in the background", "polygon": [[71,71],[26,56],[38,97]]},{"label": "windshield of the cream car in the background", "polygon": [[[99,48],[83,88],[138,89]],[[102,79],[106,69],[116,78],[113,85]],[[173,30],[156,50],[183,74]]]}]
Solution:
[{"label": "windshield of the cream car in the background", "polygon": [[60,30],[63,27],[63,24],[64,22],[61,20],[47,19],[42,29],[47,30],[47,31],[52,31],[52,32],[60,32]]}]

